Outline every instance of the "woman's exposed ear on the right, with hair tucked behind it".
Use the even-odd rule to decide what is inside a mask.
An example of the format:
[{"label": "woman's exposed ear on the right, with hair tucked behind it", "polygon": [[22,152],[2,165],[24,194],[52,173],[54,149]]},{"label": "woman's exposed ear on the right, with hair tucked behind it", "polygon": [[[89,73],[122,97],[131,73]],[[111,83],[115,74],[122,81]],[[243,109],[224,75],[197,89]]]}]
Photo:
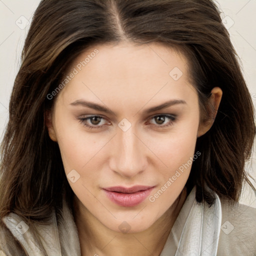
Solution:
[{"label": "woman's exposed ear on the right, with hair tucked behind it", "polygon": [[198,131],[197,131],[197,137],[200,137],[203,134],[205,134],[213,125],[215,117],[217,115],[221,98],[222,98],[222,90],[219,87],[214,87],[211,90],[211,95],[210,95],[208,106],[207,106],[207,119],[202,120],[200,122]]}]

